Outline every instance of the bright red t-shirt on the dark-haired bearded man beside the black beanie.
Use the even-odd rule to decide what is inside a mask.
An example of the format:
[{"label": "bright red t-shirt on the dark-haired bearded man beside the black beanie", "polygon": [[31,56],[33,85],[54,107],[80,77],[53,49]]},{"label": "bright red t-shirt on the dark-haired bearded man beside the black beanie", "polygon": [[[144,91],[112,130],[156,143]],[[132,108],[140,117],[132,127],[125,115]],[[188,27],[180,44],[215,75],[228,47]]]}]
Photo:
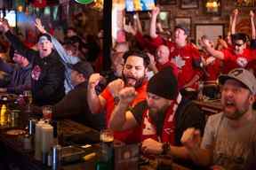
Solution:
[{"label": "bright red t-shirt on the dark-haired bearded man beside the black beanie", "polygon": [[[142,86],[136,89],[137,97],[130,104],[132,107],[139,102],[143,101],[147,97],[147,84],[148,81],[145,81]],[[104,89],[100,94],[106,100],[105,111],[106,111],[106,125],[108,127],[111,113],[115,108],[115,99],[111,95],[111,92],[108,88]],[[114,137],[117,140],[120,140],[124,143],[139,143],[140,142],[140,128],[134,128],[131,130],[125,130],[123,132],[114,132]]]}]

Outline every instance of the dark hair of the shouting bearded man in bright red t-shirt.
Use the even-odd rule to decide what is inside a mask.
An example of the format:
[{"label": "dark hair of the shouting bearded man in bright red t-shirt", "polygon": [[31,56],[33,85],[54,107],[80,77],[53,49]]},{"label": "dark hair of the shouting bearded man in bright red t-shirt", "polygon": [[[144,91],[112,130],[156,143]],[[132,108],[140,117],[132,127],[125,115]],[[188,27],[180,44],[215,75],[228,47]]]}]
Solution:
[{"label": "dark hair of the shouting bearded man in bright red t-shirt", "polygon": [[149,63],[150,63],[150,59],[148,57],[148,54],[145,53],[142,50],[128,50],[124,53],[124,63],[126,63],[127,58],[129,58],[130,56],[136,56],[139,58],[143,59],[143,63],[145,67],[148,67]]}]

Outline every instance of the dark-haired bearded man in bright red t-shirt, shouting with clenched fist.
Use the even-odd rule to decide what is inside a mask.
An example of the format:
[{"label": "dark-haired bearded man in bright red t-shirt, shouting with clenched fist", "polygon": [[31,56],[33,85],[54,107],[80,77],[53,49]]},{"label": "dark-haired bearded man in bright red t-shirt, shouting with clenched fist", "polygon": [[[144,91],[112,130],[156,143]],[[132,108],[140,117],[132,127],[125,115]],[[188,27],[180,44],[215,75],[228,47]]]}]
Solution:
[{"label": "dark-haired bearded man in bright red t-shirt, shouting with clenched fist", "polygon": [[[134,87],[138,96],[129,105],[133,106],[146,98],[146,73],[148,71],[148,55],[140,50],[129,50],[124,53],[123,79],[116,79],[108,83],[106,89],[98,96],[95,87],[102,80],[100,73],[93,73],[88,82],[87,101],[92,113],[106,112],[106,125],[111,112],[118,103],[118,93],[124,87]],[[139,142],[138,130],[115,132],[116,139],[125,143]]]}]

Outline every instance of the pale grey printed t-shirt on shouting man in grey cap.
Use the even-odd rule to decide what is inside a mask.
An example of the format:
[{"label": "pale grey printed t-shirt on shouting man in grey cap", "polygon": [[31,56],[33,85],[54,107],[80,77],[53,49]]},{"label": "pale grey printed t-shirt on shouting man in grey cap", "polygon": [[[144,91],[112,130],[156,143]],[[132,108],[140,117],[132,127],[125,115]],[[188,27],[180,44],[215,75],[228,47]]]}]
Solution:
[{"label": "pale grey printed t-shirt on shouting man in grey cap", "polygon": [[228,125],[223,112],[209,117],[204,128],[201,148],[213,148],[213,165],[225,169],[244,170],[256,161],[256,112],[241,128]]}]

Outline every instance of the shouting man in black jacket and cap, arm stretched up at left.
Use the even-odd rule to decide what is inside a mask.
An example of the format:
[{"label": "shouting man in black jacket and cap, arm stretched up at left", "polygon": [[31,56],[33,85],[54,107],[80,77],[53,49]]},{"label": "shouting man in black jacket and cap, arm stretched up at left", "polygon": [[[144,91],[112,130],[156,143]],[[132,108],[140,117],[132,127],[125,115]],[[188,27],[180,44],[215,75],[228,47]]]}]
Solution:
[{"label": "shouting man in black jacket and cap, arm stretched up at left", "polygon": [[1,20],[0,27],[12,46],[31,63],[31,90],[36,105],[56,104],[65,96],[64,71],[60,56],[52,49],[52,38],[43,34],[37,42],[37,50],[31,50],[12,35],[8,21]]}]

